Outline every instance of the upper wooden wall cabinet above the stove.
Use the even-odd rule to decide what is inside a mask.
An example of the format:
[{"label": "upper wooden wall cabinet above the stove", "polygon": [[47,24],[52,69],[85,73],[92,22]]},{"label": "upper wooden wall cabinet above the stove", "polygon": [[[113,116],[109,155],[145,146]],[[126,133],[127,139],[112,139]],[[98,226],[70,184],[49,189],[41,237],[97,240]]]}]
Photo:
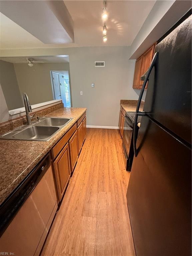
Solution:
[{"label": "upper wooden wall cabinet above the stove", "polygon": [[[155,49],[156,42],[147,49],[137,60],[135,63],[135,72],[134,72],[134,79],[133,79],[133,88],[141,89],[143,82],[140,80],[140,77],[147,71],[149,68]],[[147,85],[146,87],[147,88]]]}]

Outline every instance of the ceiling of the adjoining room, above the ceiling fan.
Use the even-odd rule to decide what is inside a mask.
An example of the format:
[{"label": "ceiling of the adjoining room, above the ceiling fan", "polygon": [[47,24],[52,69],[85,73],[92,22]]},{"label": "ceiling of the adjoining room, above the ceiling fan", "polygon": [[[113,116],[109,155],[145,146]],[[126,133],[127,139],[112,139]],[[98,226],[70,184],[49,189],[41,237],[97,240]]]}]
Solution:
[{"label": "ceiling of the adjoining room, above the ceiling fan", "polygon": [[24,57],[2,57],[0,60],[17,63],[25,61],[25,59],[33,59],[43,61],[44,63],[69,63],[69,55],[56,55],[56,56],[24,56]]}]

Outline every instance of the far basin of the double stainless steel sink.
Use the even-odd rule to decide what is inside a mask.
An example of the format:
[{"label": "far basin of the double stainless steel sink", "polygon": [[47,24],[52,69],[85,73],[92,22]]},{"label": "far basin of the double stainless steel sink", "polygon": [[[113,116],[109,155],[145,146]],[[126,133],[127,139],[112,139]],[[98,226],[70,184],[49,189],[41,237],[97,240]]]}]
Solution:
[{"label": "far basin of the double stainless steel sink", "polygon": [[71,118],[43,117],[35,126],[63,126],[71,121]]}]

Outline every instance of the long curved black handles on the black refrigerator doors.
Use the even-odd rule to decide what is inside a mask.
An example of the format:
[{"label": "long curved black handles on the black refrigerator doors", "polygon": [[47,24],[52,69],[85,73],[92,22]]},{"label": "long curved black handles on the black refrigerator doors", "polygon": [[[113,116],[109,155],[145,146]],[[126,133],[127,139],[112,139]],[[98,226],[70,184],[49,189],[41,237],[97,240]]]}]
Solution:
[{"label": "long curved black handles on the black refrigerator doors", "polygon": [[136,115],[135,115],[135,121],[134,121],[134,125],[133,125],[133,148],[134,148],[134,154],[135,154],[135,157],[137,157],[137,147],[136,147],[136,142],[137,142],[137,134],[136,134],[136,129],[137,129],[137,119],[138,119],[138,115],[139,116],[143,116],[145,115],[145,112],[143,111],[139,111],[139,108],[140,108],[140,105],[141,105],[141,99],[143,97],[143,93],[144,93],[144,89],[145,89],[145,86],[147,84],[147,81],[149,79],[149,75],[151,73],[151,70],[152,68],[155,66],[155,63],[156,63],[156,60],[157,60],[157,56],[158,56],[158,52],[156,52],[153,56],[153,59],[151,61],[151,65],[147,71],[147,74],[145,76],[145,80],[143,82],[143,86],[141,88],[141,92],[140,92],[140,95],[139,95],[139,99],[138,99],[138,103],[137,103],[137,108],[136,108]]}]

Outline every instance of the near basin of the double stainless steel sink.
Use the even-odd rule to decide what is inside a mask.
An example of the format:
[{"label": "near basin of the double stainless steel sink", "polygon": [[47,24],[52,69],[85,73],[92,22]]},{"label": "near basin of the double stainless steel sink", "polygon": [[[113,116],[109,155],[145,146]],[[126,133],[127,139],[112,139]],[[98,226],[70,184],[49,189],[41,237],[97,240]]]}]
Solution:
[{"label": "near basin of the double stainless steel sink", "polygon": [[13,139],[21,139],[21,140],[42,140],[49,138],[52,134],[54,134],[59,127],[52,126],[31,126],[21,132],[13,135]]}]

